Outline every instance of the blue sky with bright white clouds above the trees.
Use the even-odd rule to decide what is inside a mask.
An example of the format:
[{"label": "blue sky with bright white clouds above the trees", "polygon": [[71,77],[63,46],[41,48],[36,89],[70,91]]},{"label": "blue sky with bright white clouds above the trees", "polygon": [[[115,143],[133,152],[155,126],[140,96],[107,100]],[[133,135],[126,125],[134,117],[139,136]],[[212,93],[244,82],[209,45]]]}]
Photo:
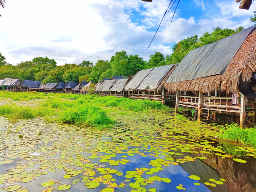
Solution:
[{"label": "blue sky with bright white clouds above the trees", "polygon": [[[12,0],[0,8],[0,52],[11,64],[38,56],[55,59],[58,65],[83,60],[110,60],[117,51],[141,56],[172,53],[178,41],[211,32],[212,27],[251,26],[256,10],[239,9],[235,0],[180,0],[148,47],[170,0]],[[178,0],[176,0],[176,3]]]}]

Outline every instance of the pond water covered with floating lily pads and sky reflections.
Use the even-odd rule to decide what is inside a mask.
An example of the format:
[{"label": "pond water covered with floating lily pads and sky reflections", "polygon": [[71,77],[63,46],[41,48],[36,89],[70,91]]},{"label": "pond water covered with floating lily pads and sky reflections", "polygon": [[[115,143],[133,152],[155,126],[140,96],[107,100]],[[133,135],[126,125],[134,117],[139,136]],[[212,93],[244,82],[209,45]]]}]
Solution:
[{"label": "pond water covered with floating lily pads and sky reflections", "polygon": [[0,191],[256,190],[256,148],[219,143],[212,124],[163,112],[111,115],[114,128],[101,131],[2,117]]}]

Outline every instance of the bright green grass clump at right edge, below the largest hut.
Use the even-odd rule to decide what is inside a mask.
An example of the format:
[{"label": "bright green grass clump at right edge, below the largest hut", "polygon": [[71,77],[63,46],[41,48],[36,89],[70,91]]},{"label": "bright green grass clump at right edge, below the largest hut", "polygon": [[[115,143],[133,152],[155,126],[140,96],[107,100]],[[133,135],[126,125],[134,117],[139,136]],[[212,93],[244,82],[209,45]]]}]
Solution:
[{"label": "bright green grass clump at right edge, below the largest hut", "polygon": [[256,146],[256,128],[240,129],[237,123],[219,125],[219,139]]}]

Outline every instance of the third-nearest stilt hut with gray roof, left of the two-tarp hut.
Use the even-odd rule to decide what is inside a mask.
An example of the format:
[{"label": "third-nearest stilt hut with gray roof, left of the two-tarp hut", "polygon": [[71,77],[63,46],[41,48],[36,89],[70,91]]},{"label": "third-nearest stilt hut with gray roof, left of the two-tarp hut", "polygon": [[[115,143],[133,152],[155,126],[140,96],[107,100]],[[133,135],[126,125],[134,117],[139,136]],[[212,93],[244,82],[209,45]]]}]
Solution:
[{"label": "third-nearest stilt hut with gray roof, left of the two-tarp hut", "polygon": [[100,96],[116,96],[123,97],[125,95],[124,87],[127,84],[128,79],[116,79],[104,81],[96,91]]}]

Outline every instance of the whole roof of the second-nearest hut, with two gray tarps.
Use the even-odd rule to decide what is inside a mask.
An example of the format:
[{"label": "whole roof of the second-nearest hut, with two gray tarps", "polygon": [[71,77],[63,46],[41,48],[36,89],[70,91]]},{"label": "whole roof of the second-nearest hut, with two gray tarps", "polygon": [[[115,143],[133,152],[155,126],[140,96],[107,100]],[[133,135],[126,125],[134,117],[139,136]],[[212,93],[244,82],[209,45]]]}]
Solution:
[{"label": "whole roof of the second-nearest hut, with two gray tarps", "polygon": [[136,73],[133,79],[131,79],[131,81],[128,82],[128,84],[125,86],[125,90],[156,91],[159,85],[162,84],[162,81],[166,77],[166,75],[170,74],[170,71],[174,70],[173,67],[174,65],[167,65],[139,71],[138,73]]}]

